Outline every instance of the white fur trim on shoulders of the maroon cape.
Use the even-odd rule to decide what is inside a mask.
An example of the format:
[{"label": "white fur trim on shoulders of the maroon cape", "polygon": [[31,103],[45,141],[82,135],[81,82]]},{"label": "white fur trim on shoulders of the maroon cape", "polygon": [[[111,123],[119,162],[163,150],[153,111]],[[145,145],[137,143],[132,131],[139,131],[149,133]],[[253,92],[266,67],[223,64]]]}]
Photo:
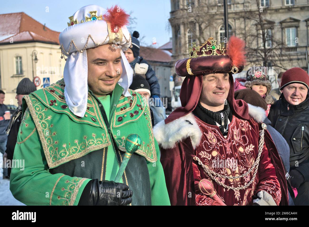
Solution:
[{"label": "white fur trim on shoulders of the maroon cape", "polygon": [[[265,110],[262,107],[256,107],[251,104],[249,106],[249,115],[253,117],[256,122],[261,123],[265,120]],[[174,148],[177,142],[180,142],[188,137],[191,138],[193,149],[199,145],[202,137],[202,132],[195,116],[189,113],[180,117],[168,124],[164,120],[160,121],[153,128],[155,139],[163,149]]]}]

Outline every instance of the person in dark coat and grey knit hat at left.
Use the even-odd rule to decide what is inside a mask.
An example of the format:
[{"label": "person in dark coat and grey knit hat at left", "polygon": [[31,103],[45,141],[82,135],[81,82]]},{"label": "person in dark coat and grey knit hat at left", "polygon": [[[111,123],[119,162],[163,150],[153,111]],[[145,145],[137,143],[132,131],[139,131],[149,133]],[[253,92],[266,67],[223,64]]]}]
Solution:
[{"label": "person in dark coat and grey knit hat at left", "polygon": [[[17,134],[21,123],[22,115],[22,100],[24,95],[29,95],[31,92],[36,91],[36,86],[31,82],[29,78],[23,78],[16,89],[17,110],[12,115],[9,125],[6,129],[7,143],[6,143],[6,155],[8,160],[13,159],[14,149],[17,141]],[[11,162],[12,163],[12,162]],[[10,177],[11,168],[7,169],[7,175]]]}]

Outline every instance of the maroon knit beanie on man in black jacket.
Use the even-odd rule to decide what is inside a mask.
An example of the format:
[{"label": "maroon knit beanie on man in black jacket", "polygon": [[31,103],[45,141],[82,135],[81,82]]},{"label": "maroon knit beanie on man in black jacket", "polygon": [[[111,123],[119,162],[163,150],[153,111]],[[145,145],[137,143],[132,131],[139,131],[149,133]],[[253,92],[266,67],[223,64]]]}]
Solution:
[{"label": "maroon knit beanie on man in black jacket", "polygon": [[303,84],[309,90],[309,76],[307,72],[298,67],[287,70],[282,75],[280,90],[282,90],[285,86],[292,84],[292,83]]}]

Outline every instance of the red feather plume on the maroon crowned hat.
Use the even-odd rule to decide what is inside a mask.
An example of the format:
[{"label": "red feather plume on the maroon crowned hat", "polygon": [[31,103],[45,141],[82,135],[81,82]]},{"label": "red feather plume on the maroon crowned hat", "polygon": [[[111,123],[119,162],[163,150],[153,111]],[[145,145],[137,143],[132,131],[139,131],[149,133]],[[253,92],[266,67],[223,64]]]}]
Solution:
[{"label": "red feather plume on the maroon crowned hat", "polygon": [[231,58],[233,65],[239,67],[246,63],[245,41],[231,36],[227,44],[226,54]]}]

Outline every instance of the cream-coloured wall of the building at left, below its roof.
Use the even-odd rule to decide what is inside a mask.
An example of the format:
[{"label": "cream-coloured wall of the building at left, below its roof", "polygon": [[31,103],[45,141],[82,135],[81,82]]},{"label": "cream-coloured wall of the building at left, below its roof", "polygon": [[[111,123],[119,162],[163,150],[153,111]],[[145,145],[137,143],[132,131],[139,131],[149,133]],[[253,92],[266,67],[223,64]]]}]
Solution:
[{"label": "cream-coloured wall of the building at left, below its roof", "polygon": [[[33,50],[37,52],[37,63],[32,55]],[[43,78],[49,78],[50,84],[60,80],[65,65],[60,56],[59,45],[55,44],[33,42],[0,45],[0,87],[6,93],[4,104],[17,106],[16,87],[23,78],[33,81],[34,77],[39,77],[37,89],[43,87]]]}]

